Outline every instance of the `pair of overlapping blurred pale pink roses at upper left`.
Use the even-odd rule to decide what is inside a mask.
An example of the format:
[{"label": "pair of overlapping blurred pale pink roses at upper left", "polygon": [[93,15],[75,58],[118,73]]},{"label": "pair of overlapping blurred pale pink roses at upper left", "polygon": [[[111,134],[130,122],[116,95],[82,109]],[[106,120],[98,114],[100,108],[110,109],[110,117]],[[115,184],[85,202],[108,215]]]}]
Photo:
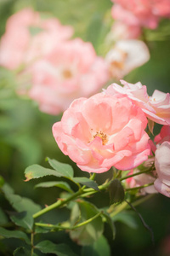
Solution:
[{"label": "pair of overlapping blurred pale pink roses at upper left", "polygon": [[18,94],[35,100],[42,112],[59,114],[75,98],[98,92],[109,79],[107,64],[93,45],[71,40],[72,34],[71,26],[43,19],[32,9],[8,19],[0,65],[16,71]]}]

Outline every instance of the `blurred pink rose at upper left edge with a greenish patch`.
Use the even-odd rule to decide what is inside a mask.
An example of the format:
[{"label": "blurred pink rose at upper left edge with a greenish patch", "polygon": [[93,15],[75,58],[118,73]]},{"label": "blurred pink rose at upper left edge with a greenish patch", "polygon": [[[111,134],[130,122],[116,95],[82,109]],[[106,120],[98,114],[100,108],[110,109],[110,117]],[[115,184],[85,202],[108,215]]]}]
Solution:
[{"label": "blurred pink rose at upper left edge with a greenish patch", "polygon": [[0,65],[15,69],[37,60],[56,46],[71,38],[71,26],[62,26],[55,18],[42,19],[32,9],[22,9],[8,18],[0,42]]}]

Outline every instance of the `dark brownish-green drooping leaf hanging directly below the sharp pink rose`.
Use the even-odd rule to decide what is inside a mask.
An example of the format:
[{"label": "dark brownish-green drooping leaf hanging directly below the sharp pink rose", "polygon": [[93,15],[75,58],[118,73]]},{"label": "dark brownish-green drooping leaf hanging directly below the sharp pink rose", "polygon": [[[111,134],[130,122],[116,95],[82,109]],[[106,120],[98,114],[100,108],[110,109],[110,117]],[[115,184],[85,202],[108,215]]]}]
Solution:
[{"label": "dark brownish-green drooping leaf hanging directly below the sharp pink rose", "polygon": [[116,202],[122,202],[124,200],[125,192],[122,187],[122,183],[118,179],[114,179],[111,181],[108,191],[111,204]]}]

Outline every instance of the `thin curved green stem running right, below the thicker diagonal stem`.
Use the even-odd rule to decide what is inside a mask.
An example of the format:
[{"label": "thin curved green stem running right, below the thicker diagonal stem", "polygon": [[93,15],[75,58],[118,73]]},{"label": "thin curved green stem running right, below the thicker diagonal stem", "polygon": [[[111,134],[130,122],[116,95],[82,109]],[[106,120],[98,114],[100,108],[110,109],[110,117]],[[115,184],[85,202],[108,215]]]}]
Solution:
[{"label": "thin curved green stem running right, below the thicker diagonal stem", "polygon": [[76,230],[90,222],[92,222],[95,218],[98,218],[103,212],[98,212],[96,215],[94,215],[94,217],[92,218],[88,218],[87,220],[83,221],[80,224],[77,224],[73,227],[65,227],[65,226],[59,226],[59,225],[53,225],[53,224],[44,224],[44,223],[35,223],[35,225],[40,226],[40,227],[44,227],[44,228],[51,228],[54,230]]}]

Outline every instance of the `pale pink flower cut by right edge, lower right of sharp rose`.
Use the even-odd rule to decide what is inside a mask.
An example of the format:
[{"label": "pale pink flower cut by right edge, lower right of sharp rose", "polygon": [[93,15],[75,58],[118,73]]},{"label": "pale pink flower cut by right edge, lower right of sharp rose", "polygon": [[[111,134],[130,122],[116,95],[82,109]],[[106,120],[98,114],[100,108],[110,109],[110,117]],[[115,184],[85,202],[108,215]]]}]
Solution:
[{"label": "pale pink flower cut by right edge, lower right of sharp rose", "polygon": [[170,197],[170,142],[163,142],[155,152],[157,179],[155,188],[162,195]]}]

